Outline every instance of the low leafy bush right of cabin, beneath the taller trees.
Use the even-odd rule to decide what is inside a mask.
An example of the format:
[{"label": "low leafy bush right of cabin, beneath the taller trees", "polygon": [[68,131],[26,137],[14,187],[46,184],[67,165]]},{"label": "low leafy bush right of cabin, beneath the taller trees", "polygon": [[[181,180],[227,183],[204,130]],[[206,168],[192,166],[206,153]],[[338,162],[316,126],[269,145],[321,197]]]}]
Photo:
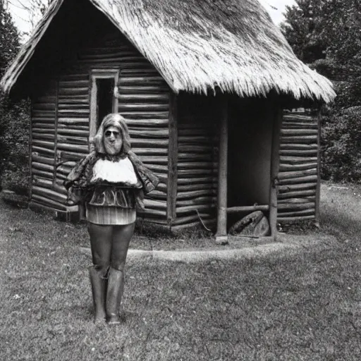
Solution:
[{"label": "low leafy bush right of cabin, beneath the taller trees", "polygon": [[322,178],[361,182],[361,106],[324,116]]}]

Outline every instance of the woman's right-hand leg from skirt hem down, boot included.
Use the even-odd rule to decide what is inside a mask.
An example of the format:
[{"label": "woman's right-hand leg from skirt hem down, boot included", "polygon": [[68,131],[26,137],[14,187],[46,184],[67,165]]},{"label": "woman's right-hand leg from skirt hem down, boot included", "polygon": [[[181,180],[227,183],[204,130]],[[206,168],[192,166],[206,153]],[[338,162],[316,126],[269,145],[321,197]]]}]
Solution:
[{"label": "woman's right-hand leg from skirt hem down, boot included", "polygon": [[114,226],[111,267],[106,293],[106,316],[109,324],[119,324],[119,308],[124,290],[126,257],[135,224]]}]

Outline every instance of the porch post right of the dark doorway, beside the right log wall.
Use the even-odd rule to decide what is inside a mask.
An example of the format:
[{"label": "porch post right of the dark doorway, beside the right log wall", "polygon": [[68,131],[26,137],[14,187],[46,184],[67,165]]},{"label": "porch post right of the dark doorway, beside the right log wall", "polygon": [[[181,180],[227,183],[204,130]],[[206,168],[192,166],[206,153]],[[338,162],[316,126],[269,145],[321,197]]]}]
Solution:
[{"label": "porch post right of the dark doorway, beside the right log wall", "polygon": [[269,187],[269,227],[271,228],[271,237],[276,240],[277,237],[277,193],[279,183],[279,147],[280,134],[283,118],[283,109],[279,104],[274,112],[273,131],[272,131],[272,149],[271,149],[271,184]]}]

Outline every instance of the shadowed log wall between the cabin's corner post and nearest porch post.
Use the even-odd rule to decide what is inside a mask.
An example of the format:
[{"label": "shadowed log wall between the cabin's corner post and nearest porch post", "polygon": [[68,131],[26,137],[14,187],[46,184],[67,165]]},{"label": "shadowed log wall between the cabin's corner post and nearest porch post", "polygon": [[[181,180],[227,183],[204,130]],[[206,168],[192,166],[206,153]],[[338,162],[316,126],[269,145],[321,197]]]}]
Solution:
[{"label": "shadowed log wall between the cabin's corner post and nearest porch post", "polygon": [[172,229],[216,222],[219,119],[214,98],[184,96],[178,101],[178,181]]}]

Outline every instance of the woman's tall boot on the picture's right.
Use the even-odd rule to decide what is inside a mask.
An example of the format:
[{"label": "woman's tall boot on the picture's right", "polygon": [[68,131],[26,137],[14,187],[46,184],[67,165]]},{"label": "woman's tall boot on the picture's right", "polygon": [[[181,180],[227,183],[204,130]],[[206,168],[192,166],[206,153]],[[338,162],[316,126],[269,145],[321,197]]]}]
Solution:
[{"label": "woman's tall boot on the picture's right", "polygon": [[124,273],[110,267],[106,289],[106,319],[108,324],[120,324],[119,309],[124,289]]}]

